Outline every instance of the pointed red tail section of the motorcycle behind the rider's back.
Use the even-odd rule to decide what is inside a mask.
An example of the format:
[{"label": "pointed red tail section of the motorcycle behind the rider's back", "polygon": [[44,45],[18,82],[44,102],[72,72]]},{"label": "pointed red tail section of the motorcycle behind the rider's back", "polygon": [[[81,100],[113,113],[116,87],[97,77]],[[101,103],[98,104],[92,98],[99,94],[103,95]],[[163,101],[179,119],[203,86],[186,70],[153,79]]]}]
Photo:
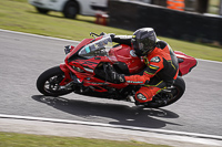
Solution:
[{"label": "pointed red tail section of the motorcycle behind the rider's back", "polygon": [[174,51],[176,57],[179,59],[179,75],[185,75],[198,64],[196,60],[182,52]]}]

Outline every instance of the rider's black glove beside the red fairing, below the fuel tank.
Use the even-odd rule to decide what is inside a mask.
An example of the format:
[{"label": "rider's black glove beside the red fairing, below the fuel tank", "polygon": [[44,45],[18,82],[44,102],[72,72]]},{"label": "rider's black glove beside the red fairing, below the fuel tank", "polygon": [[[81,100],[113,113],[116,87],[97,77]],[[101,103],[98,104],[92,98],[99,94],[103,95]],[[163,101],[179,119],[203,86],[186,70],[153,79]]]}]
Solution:
[{"label": "rider's black glove beside the red fairing, below the fuel tank", "polygon": [[120,84],[125,82],[124,74],[117,73],[110,64],[107,65],[107,74],[113,83]]}]

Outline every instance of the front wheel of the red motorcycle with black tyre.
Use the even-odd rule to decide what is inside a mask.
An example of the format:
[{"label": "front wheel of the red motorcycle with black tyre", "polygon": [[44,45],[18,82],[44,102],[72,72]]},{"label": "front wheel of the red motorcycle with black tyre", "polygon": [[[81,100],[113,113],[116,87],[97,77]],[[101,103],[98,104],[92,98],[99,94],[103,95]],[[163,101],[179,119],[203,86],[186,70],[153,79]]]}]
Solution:
[{"label": "front wheel of the red motorcycle with black tyre", "polygon": [[64,78],[64,73],[60,66],[54,66],[44,71],[37,80],[37,88],[47,96],[60,96],[71,93],[73,90],[61,88],[60,83]]}]

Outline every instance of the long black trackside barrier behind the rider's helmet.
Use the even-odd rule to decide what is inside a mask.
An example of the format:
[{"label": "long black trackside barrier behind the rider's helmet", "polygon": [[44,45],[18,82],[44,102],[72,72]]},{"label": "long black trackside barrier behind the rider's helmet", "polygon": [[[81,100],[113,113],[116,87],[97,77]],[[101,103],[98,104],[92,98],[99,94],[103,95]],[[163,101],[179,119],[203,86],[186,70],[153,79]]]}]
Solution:
[{"label": "long black trackside barrier behind the rider's helmet", "polygon": [[[122,9],[124,8],[124,9]],[[151,27],[158,35],[222,44],[222,18],[148,3],[109,0],[109,25],[134,31]]]}]

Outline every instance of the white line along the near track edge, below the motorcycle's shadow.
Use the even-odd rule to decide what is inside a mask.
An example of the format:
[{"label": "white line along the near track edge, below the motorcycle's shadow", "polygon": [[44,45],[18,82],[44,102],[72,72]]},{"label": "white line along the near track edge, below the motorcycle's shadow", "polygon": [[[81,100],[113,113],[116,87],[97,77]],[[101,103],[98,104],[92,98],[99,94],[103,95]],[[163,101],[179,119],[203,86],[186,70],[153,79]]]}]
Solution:
[{"label": "white line along the near track edge, below the motorcycle's shadow", "polygon": [[142,130],[142,132],[150,132],[150,133],[179,135],[179,136],[190,136],[190,137],[222,140],[222,136],[216,136],[216,135],[174,132],[174,130],[165,130],[165,129],[152,129],[152,128],[145,128],[145,127],[133,127],[133,126],[124,126],[124,125],[111,125],[111,124],[94,123],[94,122],[81,122],[81,120],[56,119],[56,118],[43,118],[43,117],[32,117],[32,116],[19,116],[19,115],[4,115],[4,114],[0,114],[0,118],[40,120],[40,122],[65,123],[65,124],[80,124],[80,125],[89,125],[89,126],[113,127],[113,128],[123,128],[123,129],[131,129],[131,130]]}]

